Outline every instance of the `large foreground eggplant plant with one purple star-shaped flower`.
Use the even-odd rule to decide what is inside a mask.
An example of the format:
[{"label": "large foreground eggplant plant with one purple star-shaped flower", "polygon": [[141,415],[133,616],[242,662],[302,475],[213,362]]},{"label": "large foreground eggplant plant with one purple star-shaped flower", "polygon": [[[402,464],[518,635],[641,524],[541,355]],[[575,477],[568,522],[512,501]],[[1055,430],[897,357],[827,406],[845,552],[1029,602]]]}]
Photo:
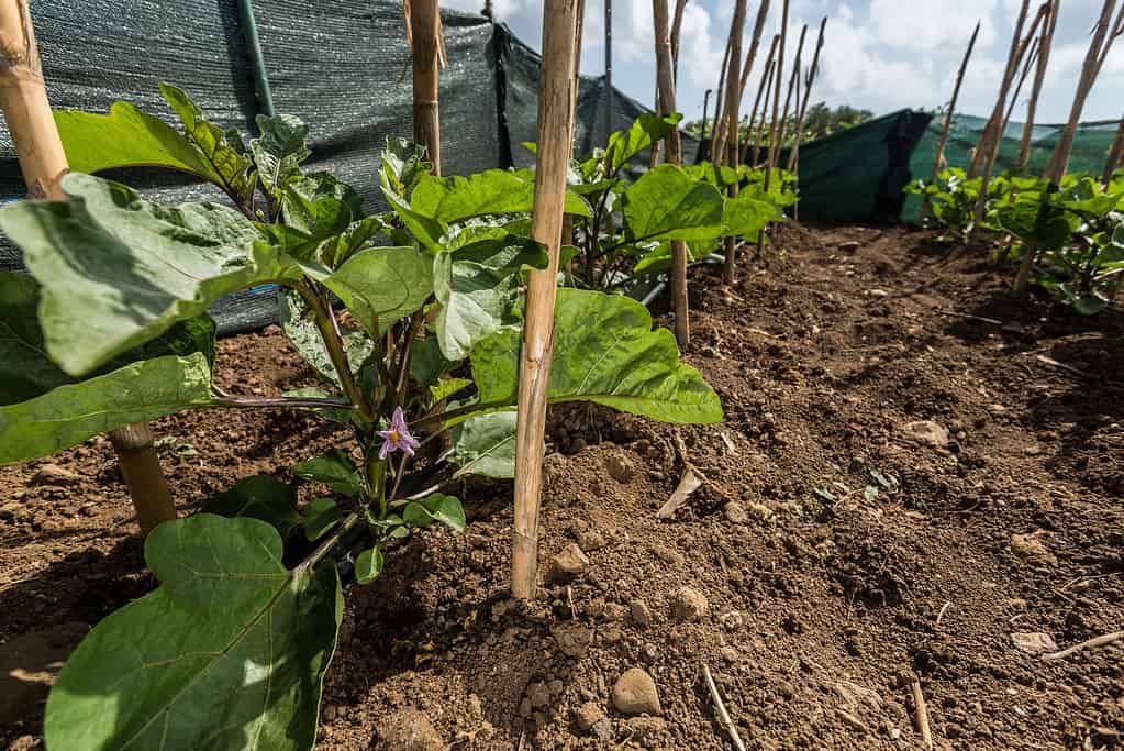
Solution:
[{"label": "large foreground eggplant plant with one purple star-shaped flower", "polygon": [[[0,274],[0,463],[185,409],[307,410],[335,423],[339,443],[294,465],[292,481],[245,478],[152,532],[160,587],[71,654],[45,740],[67,751],[308,749],[342,576],[375,580],[418,528],[463,530],[447,494],[459,478],[514,474],[524,275],[547,261],[529,238],[534,184],[500,170],[437,178],[422,150],[391,141],[372,165],[391,210],[368,215],[352,187],[302,170],[298,119],[259,116],[247,143],[182,90],[162,92],[182,129],[124,102],[57,112],[75,170],[67,200],[0,209],[30,272]],[[92,174],[135,165],[206,180],[219,201],[162,206]],[[646,200],[656,216],[683,210],[672,194]],[[595,214],[577,191],[566,210]],[[282,328],[320,387],[248,397],[212,382],[207,310],[261,284],[278,286]],[[670,332],[653,331],[638,302],[591,290],[559,292],[547,398],[668,422],[723,417]],[[303,504],[301,483],[317,490]]]}]

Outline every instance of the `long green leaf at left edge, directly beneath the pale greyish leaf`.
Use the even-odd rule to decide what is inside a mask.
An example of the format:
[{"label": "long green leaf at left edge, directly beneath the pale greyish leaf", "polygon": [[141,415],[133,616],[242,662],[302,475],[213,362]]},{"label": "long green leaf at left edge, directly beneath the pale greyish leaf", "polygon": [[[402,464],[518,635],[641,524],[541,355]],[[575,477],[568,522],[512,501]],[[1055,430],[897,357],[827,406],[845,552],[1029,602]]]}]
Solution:
[{"label": "long green leaf at left edge, directly beneath the pale greyish leaf", "polygon": [[210,401],[207,358],[142,360],[0,407],[0,464],[46,456],[91,435]]}]

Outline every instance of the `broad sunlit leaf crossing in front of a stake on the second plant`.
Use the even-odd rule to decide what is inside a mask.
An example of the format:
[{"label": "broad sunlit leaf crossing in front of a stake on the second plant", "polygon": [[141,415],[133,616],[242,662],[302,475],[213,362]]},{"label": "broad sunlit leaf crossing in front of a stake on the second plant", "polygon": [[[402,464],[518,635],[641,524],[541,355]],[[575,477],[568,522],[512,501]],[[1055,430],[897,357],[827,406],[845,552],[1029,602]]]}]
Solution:
[{"label": "broad sunlit leaf crossing in front of a stake on the second plant", "polygon": [[622,194],[629,239],[705,241],[724,234],[725,201],[714,186],[661,164]]}]

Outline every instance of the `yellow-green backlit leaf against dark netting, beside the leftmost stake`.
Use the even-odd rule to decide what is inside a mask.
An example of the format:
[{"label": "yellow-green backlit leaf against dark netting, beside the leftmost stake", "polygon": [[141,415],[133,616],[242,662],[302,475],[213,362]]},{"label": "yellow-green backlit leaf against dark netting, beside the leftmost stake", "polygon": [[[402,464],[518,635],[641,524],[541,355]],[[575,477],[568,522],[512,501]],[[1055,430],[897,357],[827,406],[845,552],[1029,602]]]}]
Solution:
[{"label": "yellow-green backlit leaf against dark netting, beside the leftmost stake", "polygon": [[108,115],[55,110],[54,116],[72,172],[165,166],[211,182],[219,180],[182,134],[128,102],[114,102]]}]

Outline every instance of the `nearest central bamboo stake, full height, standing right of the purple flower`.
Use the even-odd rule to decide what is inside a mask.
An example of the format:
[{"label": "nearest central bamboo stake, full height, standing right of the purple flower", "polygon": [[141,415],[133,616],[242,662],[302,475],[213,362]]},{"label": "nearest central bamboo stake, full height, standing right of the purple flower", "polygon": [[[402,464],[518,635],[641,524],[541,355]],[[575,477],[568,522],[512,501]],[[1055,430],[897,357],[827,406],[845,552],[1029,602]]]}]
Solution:
[{"label": "nearest central bamboo stake, full height, standing right of the purple flower", "polygon": [[538,589],[538,507],[543,483],[546,389],[554,344],[554,300],[573,123],[570,114],[577,0],[545,0],[543,62],[538,92],[538,166],[532,237],[550,262],[529,272],[527,313],[519,353],[519,398],[515,455],[515,534],[511,594],[533,599]]}]

